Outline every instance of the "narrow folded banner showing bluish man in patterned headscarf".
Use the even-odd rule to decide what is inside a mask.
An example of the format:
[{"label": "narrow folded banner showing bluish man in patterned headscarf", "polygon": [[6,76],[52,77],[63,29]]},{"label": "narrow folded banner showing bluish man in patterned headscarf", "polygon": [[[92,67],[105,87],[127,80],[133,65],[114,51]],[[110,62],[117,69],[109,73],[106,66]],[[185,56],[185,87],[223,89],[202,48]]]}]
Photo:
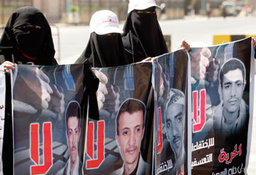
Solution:
[{"label": "narrow folded banner showing bluish man in patterned headscarf", "polygon": [[153,68],[155,174],[188,174],[188,55],[178,50],[159,56],[154,59]]}]

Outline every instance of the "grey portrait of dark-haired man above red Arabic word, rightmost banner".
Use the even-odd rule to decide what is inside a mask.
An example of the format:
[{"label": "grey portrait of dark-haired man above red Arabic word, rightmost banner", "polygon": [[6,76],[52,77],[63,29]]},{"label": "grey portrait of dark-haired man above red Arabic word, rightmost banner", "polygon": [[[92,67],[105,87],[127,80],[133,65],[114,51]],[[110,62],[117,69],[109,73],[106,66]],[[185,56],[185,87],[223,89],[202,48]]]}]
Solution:
[{"label": "grey portrait of dark-haired man above red Arabic word, rightmost banner", "polygon": [[214,129],[232,136],[247,123],[248,105],[243,99],[246,85],[244,63],[236,58],[226,61],[219,72],[222,102],[214,109]]}]

